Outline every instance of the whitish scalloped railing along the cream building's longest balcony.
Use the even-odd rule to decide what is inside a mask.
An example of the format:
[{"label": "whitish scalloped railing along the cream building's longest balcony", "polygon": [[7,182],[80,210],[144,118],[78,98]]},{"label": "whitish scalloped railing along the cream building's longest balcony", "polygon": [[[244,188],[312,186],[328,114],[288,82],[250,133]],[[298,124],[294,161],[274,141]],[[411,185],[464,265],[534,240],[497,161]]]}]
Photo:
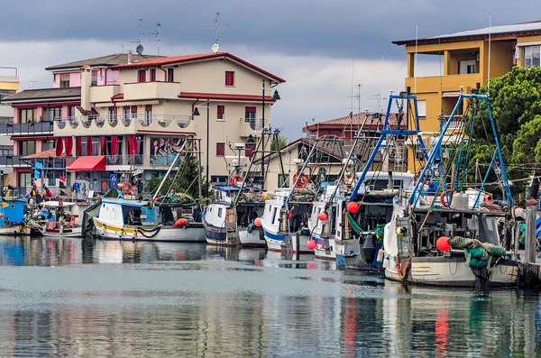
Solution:
[{"label": "whitish scalloped railing along the cream building's longest balcony", "polygon": [[132,125],[150,127],[157,124],[160,128],[168,128],[175,123],[180,129],[185,129],[191,123],[191,115],[80,115],[71,117],[56,117],[56,128],[63,130],[67,126],[78,128],[79,124],[85,128],[92,125],[96,128],[129,128]]}]

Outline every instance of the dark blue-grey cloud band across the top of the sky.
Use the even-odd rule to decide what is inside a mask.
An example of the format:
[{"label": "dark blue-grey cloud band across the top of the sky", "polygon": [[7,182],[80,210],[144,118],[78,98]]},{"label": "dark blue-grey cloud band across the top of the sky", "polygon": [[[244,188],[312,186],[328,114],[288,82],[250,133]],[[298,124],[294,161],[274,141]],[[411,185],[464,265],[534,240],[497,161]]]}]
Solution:
[{"label": "dark blue-grey cloud band across the top of the sky", "polygon": [[415,38],[417,23],[423,37],[484,27],[489,12],[493,24],[532,21],[524,9],[536,3],[494,0],[489,9],[487,2],[464,0],[23,0],[4,5],[0,21],[5,29],[16,29],[4,32],[6,41],[95,39],[128,47],[142,18],[144,32],[153,32],[160,21],[163,40],[207,50],[215,34],[206,28],[214,26],[220,11],[224,50],[246,45],[291,55],[377,59],[403,54],[390,41]]}]

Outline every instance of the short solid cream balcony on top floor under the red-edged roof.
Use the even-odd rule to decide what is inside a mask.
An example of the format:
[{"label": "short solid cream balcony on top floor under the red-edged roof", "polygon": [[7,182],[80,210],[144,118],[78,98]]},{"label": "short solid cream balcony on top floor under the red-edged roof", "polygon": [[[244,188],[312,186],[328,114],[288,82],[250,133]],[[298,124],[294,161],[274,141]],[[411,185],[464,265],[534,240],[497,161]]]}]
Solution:
[{"label": "short solid cream balcony on top floor under the red-edged roof", "polygon": [[124,83],[124,101],[143,99],[178,99],[179,82],[137,82]]}]

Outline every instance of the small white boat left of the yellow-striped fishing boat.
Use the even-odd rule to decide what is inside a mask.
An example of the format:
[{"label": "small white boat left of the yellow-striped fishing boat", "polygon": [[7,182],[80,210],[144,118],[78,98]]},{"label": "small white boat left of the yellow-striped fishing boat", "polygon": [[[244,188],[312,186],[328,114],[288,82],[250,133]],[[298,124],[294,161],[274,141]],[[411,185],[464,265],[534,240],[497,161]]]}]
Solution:
[{"label": "small white boat left of the yellow-striped fishing boat", "polygon": [[77,207],[76,203],[51,200],[42,202],[41,207],[49,212],[50,218],[36,226],[40,234],[51,237],[82,237],[82,226],[80,220],[77,220],[78,214],[70,210]]}]

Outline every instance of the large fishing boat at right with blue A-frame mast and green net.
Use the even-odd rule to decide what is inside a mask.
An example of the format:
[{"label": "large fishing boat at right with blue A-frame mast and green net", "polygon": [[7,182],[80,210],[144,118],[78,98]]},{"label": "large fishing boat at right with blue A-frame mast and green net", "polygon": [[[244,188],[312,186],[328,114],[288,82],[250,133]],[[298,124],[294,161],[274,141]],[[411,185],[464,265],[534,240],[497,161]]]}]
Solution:
[{"label": "large fishing boat at right with blue A-frame mast and green net", "polygon": [[[409,100],[416,103],[417,98],[408,96]],[[463,134],[454,140],[451,150],[446,149],[444,156],[444,141],[449,138],[445,133],[464,102]],[[464,133],[472,133],[469,129],[481,103],[486,106],[489,121],[483,125],[491,128],[491,138],[487,140],[493,141],[495,149],[472,204],[472,189],[463,188],[472,136]],[[505,197],[498,208],[483,207],[481,191],[494,168],[500,171],[498,177],[502,179]],[[419,170],[414,188],[394,197],[392,207],[390,222],[384,228],[386,278],[436,286],[517,285],[519,262],[513,260],[505,237],[507,228],[513,225],[513,197],[487,96],[477,94],[475,89],[472,94],[461,93],[452,115],[442,118],[439,136]]]}]

